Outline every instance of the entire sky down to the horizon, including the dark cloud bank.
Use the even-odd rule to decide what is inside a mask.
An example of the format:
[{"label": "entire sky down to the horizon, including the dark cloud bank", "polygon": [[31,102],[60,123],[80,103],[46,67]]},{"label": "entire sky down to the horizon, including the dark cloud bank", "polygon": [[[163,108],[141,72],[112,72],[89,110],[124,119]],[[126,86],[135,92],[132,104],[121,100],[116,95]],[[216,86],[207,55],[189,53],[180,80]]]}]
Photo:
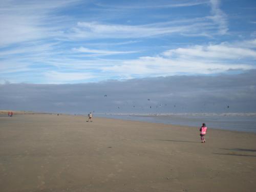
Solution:
[{"label": "entire sky down to the horizon, including the dark cloud bank", "polygon": [[[233,112],[256,111],[253,99],[256,84],[251,75],[256,75],[254,0],[2,0],[0,27],[0,109],[42,111],[43,106],[49,104],[48,111],[82,113],[93,109],[103,111],[100,110],[102,106],[105,111],[110,111],[114,104],[116,109],[118,103],[115,102],[118,101],[123,106],[124,103],[139,102],[140,111],[143,111],[148,107],[148,103],[142,101],[145,95],[131,87],[137,82],[149,89],[142,89],[145,93],[155,95],[152,105],[162,106],[168,100],[169,105],[174,105],[170,100],[175,100],[183,103],[180,110],[201,111],[200,101],[205,93],[199,89],[197,80],[203,79],[209,83],[201,88],[211,95],[209,102],[221,101],[223,106],[237,103],[234,108],[230,106]],[[233,81],[226,82],[225,76]],[[180,81],[172,80],[176,78]],[[240,79],[245,87],[239,87],[236,79]],[[159,89],[155,83],[159,80],[166,89],[176,92],[167,94],[167,90]],[[197,84],[188,82],[190,87],[187,87],[185,80]],[[126,89],[129,94],[125,93],[134,101],[126,98],[123,91],[117,94],[118,98],[112,95],[111,104],[90,104],[90,109],[84,105],[84,110],[78,110],[78,103],[89,101],[84,96],[87,100],[77,100],[68,106],[76,101],[76,95],[71,92],[75,88],[80,89],[78,94],[97,98],[96,93],[100,93],[100,97],[106,94],[106,91],[100,91],[102,84],[104,89],[117,93],[120,87],[116,83],[124,87],[130,83]],[[216,86],[211,87],[211,83]],[[174,89],[176,86],[181,88]],[[16,92],[12,95],[14,87]],[[192,88],[198,90],[194,95],[190,94]],[[30,96],[23,89],[30,90]],[[45,105],[39,106],[31,101],[42,102],[41,97],[34,95],[41,89],[46,91],[47,97]],[[59,102],[62,108],[57,101],[51,100],[52,95],[63,97],[57,90],[69,95]],[[221,90],[232,90],[232,94],[237,90],[240,96],[224,99],[228,93]],[[177,96],[176,99],[172,94]],[[108,95],[111,94],[108,92]],[[7,104],[10,98],[15,102],[24,100],[27,105]],[[90,102],[95,103],[94,100]],[[254,108],[246,103],[251,103]],[[161,109],[163,112],[174,111],[167,107]],[[208,111],[223,109],[211,106]]]}]

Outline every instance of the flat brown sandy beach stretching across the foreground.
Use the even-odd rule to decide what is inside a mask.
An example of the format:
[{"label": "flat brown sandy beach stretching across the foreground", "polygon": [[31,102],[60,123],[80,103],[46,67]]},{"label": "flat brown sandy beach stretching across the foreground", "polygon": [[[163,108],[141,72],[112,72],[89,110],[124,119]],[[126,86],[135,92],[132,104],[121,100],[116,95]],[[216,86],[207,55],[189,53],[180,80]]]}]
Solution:
[{"label": "flat brown sandy beach stretching across the foreground", "polygon": [[256,134],[69,115],[0,117],[0,191],[255,191]]}]

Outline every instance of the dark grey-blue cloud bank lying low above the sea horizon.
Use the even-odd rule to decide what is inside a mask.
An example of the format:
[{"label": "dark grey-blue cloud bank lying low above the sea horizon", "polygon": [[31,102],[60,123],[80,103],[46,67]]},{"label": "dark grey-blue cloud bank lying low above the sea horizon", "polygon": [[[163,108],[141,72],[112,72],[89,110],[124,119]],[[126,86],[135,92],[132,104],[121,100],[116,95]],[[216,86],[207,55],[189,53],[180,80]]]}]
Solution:
[{"label": "dark grey-blue cloud bank lying low above the sea horizon", "polygon": [[74,114],[255,112],[255,76],[256,71],[251,70],[236,75],[169,76],[98,83],[6,83],[0,85],[0,109]]}]

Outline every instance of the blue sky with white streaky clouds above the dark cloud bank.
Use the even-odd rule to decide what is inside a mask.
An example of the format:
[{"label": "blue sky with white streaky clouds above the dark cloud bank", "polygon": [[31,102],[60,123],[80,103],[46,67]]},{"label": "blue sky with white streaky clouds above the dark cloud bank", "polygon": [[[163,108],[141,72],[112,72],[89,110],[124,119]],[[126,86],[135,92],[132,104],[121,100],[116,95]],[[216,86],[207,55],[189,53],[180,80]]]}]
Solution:
[{"label": "blue sky with white streaky clouds above the dark cloud bank", "polygon": [[0,83],[256,69],[256,1],[0,3]]}]

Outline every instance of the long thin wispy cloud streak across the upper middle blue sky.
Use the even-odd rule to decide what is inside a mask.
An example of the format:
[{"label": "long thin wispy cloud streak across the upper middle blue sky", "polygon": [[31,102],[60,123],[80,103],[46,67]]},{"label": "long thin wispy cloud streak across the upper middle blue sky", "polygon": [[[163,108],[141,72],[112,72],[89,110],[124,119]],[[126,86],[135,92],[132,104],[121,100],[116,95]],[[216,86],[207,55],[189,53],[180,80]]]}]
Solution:
[{"label": "long thin wispy cloud streak across the upper middle blue sky", "polygon": [[[145,38],[172,34],[194,34],[205,36],[215,26],[205,19],[189,19],[178,22],[155,23],[148,25],[113,25],[98,22],[79,22],[67,37],[71,39],[95,38]],[[192,23],[192,24],[191,24]],[[203,34],[205,31],[205,34]]]}]

